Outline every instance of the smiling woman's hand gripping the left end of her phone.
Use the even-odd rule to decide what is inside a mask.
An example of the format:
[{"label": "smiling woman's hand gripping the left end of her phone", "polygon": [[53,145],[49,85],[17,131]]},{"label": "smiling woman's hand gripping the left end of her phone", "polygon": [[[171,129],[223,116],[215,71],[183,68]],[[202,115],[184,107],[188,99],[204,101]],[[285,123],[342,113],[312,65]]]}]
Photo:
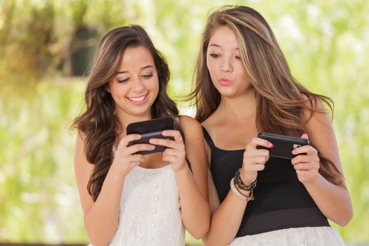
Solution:
[{"label": "smiling woman's hand gripping the left end of her phone", "polygon": [[145,144],[145,143],[138,143],[127,147],[128,143],[131,141],[135,141],[141,138],[139,134],[129,134],[124,136],[118,147],[117,152],[115,153],[114,160],[112,162],[112,166],[110,168],[115,169],[119,176],[127,176],[131,169],[138,166],[143,162],[144,158],[141,154],[134,154],[138,151],[142,150],[153,150],[155,149],[155,145],[152,144]]}]

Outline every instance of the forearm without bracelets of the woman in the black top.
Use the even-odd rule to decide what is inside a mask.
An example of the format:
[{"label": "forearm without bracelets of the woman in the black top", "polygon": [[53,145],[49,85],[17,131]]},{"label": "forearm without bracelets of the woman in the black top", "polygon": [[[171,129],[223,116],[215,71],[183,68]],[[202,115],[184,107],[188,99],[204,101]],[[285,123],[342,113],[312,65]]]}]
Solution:
[{"label": "forearm without bracelets of the woman in the black top", "polygon": [[349,191],[346,188],[330,183],[321,174],[313,181],[304,183],[304,186],[328,219],[339,226],[349,223],[353,212]]}]

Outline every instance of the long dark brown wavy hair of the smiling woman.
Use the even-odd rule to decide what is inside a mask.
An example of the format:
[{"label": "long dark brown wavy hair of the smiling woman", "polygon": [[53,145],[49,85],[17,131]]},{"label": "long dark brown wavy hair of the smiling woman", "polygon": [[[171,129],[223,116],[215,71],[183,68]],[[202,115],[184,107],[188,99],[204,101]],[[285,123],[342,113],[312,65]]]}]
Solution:
[{"label": "long dark brown wavy hair of the smiling woman", "polygon": [[[167,95],[170,77],[167,61],[157,51],[145,30],[138,25],[131,25],[116,28],[105,34],[98,44],[87,82],[84,96],[86,111],[75,118],[72,124],[72,128],[77,128],[85,135],[86,159],[95,165],[87,185],[94,201],[98,198],[112,164],[112,146],[119,136],[117,129],[122,129],[114,113],[115,102],[105,89],[109,80],[117,73],[122,54],[132,46],[148,48],[157,69],[159,93],[151,106],[151,117],[177,118],[179,114],[176,104]],[[175,123],[175,128],[181,131],[178,122]]]}]

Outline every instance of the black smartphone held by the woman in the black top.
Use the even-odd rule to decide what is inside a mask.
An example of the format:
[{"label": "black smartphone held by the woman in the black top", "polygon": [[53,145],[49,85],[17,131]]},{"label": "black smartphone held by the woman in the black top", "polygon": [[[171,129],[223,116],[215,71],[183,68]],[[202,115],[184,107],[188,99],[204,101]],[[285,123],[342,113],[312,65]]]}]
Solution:
[{"label": "black smartphone held by the woman in the black top", "polygon": [[266,148],[261,145],[257,145],[258,149],[269,150],[269,155],[273,157],[289,159],[291,160],[296,155],[292,155],[292,150],[300,146],[309,145],[309,140],[305,138],[295,138],[293,136],[285,136],[279,134],[269,134],[261,132],[258,138],[263,138],[274,144],[273,148]]}]

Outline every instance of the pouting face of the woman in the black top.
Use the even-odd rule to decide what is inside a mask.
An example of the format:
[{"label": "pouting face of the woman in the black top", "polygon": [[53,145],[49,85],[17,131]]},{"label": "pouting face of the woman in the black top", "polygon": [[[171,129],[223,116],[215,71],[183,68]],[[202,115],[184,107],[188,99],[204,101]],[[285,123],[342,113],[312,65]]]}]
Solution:
[{"label": "pouting face of the woman in the black top", "polygon": [[231,28],[221,26],[212,34],[207,46],[207,69],[222,96],[238,96],[250,88],[238,41]]}]

